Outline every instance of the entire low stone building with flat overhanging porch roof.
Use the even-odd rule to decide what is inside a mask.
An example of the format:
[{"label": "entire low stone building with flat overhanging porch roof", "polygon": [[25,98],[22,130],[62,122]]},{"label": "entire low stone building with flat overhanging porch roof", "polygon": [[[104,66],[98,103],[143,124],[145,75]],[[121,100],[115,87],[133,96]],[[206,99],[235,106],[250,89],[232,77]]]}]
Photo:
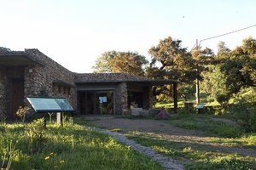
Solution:
[{"label": "entire low stone building with flat overhanging porch roof", "polygon": [[0,115],[13,117],[26,97],[67,98],[79,114],[121,114],[131,105],[152,107],[152,86],[177,81],[152,80],[124,73],[75,73],[38,49],[0,48]]}]

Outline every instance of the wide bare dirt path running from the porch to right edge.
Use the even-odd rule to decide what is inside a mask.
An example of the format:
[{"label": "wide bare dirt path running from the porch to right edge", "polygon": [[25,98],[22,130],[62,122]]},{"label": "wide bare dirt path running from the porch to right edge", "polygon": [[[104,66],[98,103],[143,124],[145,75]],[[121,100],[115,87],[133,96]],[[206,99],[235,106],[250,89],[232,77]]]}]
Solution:
[{"label": "wide bare dirt path running from the porch to right edge", "polygon": [[114,118],[113,116],[87,116],[86,119],[99,127],[117,128],[125,133],[138,131],[139,133],[146,133],[146,135],[155,139],[166,139],[168,141],[188,144],[189,146],[256,157],[256,150],[212,143],[207,141],[207,137],[209,137],[207,133],[174,127],[160,120]]}]

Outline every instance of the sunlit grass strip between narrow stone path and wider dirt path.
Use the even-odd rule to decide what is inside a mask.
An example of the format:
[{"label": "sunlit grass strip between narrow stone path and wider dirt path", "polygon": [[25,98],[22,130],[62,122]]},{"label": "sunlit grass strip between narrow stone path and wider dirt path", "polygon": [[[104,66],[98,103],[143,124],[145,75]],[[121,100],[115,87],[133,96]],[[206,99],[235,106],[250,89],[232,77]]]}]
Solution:
[{"label": "sunlit grass strip between narrow stone path and wider dirt path", "polygon": [[139,144],[152,147],[166,156],[183,161],[185,169],[255,169],[256,159],[252,156],[230,154],[225,150],[213,150],[204,144],[155,139],[147,134],[129,133],[130,139]]}]

